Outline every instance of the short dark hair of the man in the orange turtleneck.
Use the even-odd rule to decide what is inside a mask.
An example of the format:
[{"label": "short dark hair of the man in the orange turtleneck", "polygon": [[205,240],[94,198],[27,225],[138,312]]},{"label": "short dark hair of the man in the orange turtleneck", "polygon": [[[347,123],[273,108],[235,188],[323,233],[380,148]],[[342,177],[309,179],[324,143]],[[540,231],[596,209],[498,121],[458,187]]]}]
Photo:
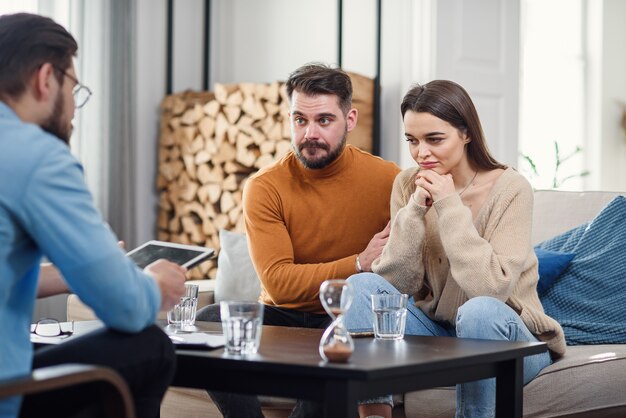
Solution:
[{"label": "short dark hair of the man in the orange turtleneck", "polygon": [[335,95],[339,98],[339,107],[344,114],[352,107],[352,81],[340,68],[321,63],[305,64],[289,74],[286,87],[289,100],[296,90],[310,96]]}]

